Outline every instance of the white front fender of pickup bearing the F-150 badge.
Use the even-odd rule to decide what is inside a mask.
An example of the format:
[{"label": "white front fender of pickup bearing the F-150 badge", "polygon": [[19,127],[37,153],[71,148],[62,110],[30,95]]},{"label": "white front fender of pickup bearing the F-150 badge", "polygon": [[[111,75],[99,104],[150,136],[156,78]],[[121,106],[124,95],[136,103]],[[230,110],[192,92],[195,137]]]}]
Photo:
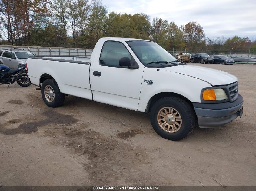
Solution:
[{"label": "white front fender of pickup bearing the F-150 badge", "polygon": [[[144,80],[152,80],[152,85],[147,84]],[[210,85],[191,76],[169,72],[166,70],[157,71],[156,68],[145,67],[141,94],[138,105],[138,111],[146,110],[149,100],[156,94],[162,92],[171,92],[186,97],[191,102],[201,102],[201,90]]]}]

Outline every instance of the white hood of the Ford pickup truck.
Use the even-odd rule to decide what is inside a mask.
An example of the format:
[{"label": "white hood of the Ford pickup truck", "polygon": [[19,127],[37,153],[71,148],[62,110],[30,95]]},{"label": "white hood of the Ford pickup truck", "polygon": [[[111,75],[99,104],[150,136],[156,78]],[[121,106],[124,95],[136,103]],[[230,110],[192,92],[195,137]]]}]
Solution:
[{"label": "white hood of the Ford pickup truck", "polygon": [[212,86],[227,85],[237,81],[237,77],[228,72],[195,65],[179,65],[160,68],[160,70],[175,72],[182,75],[188,75],[193,78],[206,81]]}]

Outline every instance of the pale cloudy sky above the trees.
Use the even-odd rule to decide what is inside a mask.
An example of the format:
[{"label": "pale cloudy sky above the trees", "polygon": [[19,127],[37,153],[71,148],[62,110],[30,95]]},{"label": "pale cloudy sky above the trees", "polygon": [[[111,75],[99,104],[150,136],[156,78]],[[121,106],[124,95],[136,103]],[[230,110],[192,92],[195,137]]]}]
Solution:
[{"label": "pale cloudy sky above the trees", "polygon": [[145,13],[179,27],[197,21],[208,38],[249,37],[256,40],[256,0],[102,0],[108,11]]}]

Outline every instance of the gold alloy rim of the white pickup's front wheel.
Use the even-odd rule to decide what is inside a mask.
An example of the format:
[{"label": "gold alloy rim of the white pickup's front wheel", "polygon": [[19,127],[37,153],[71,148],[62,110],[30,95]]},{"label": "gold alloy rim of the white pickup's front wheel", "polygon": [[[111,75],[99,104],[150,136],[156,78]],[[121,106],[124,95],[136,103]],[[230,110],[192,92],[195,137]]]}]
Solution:
[{"label": "gold alloy rim of the white pickup's front wheel", "polygon": [[163,107],[157,114],[158,125],[168,133],[177,132],[181,127],[181,115],[173,107]]}]

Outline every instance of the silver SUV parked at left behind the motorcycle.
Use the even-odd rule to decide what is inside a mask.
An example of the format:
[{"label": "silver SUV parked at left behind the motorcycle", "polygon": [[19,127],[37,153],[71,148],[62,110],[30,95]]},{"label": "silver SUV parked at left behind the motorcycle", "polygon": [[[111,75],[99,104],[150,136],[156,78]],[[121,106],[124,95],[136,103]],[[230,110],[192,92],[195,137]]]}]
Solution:
[{"label": "silver SUV parked at left behind the motorcycle", "polygon": [[9,68],[17,69],[20,65],[26,64],[29,56],[35,56],[24,49],[5,49],[0,50],[0,64],[6,65]]}]

